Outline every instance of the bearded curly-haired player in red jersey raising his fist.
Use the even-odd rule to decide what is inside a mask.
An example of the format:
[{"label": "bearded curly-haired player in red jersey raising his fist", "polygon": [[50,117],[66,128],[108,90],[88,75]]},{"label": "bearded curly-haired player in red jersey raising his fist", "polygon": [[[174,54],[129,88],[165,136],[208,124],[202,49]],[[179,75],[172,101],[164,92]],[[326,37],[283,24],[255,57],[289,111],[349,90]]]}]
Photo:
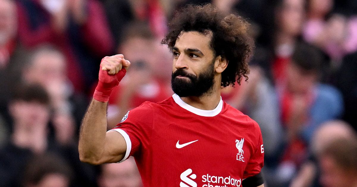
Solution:
[{"label": "bearded curly-haired player in red jersey raising his fist", "polygon": [[159,103],[144,102],[108,132],[107,101],[130,61],[124,55],[102,60],[82,122],[81,161],[101,164],[134,156],[145,187],[263,187],[260,128],[220,96],[221,87],[247,78],[252,47],[247,23],[224,17],[209,4],[190,5],[174,16],[162,44],[174,57],[175,94]]}]

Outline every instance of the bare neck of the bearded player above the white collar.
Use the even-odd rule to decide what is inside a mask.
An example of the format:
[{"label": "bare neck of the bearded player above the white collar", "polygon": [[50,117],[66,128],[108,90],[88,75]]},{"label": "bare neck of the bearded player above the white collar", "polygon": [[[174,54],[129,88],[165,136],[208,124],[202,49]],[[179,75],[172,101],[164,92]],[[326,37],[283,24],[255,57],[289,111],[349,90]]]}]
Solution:
[{"label": "bare neck of the bearded player above the white collar", "polygon": [[[216,84],[216,83],[219,83]],[[181,97],[182,101],[201,110],[213,110],[221,100],[221,80],[215,81],[212,89],[202,96]]]}]

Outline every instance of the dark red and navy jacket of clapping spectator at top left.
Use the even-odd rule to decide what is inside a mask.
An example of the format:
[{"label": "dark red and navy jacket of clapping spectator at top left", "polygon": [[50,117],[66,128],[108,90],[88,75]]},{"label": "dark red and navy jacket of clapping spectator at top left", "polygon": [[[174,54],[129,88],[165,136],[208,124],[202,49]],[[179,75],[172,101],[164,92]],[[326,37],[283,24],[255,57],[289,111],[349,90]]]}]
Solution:
[{"label": "dark red and navy jacket of clapping spectator at top left", "polygon": [[87,76],[86,72],[82,71],[86,68],[86,62],[80,61],[87,60],[86,54],[91,54],[91,57],[110,55],[114,45],[101,3],[96,0],[86,2],[86,21],[77,25],[81,37],[78,40],[86,47],[85,50],[88,50],[84,53],[78,42],[70,38],[73,27],[68,25],[66,31],[56,31],[51,13],[42,7],[39,0],[17,1],[20,42],[29,49],[41,44],[58,47],[66,56],[67,76],[77,91],[83,89]]}]

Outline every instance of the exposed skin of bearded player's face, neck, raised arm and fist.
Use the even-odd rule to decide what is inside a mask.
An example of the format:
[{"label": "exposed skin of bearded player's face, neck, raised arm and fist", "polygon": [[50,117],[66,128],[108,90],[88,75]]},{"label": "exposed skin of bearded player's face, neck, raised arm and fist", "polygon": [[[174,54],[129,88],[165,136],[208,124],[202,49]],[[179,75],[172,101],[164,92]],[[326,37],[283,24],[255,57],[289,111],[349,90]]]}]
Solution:
[{"label": "exposed skin of bearded player's face, neck, raised arm and fist", "polygon": [[[213,110],[217,107],[221,95],[221,73],[226,69],[228,62],[221,56],[214,57],[210,47],[211,34],[204,35],[200,32],[181,32],[173,47],[172,72],[183,69],[189,74],[198,76],[205,71],[214,61],[215,83],[210,90],[200,97],[181,97],[188,105],[202,110]],[[102,70],[110,75],[116,74],[122,67],[128,69],[130,62],[124,60],[124,55],[105,57],[101,62]],[[188,77],[176,77],[185,79]],[[94,165],[109,162],[118,162],[124,158],[126,143],[124,137],[115,131],[106,132],[106,107],[107,102],[92,100],[83,119],[79,153],[82,162]],[[93,133],[95,132],[95,133]],[[262,187],[261,185],[259,187]]]}]

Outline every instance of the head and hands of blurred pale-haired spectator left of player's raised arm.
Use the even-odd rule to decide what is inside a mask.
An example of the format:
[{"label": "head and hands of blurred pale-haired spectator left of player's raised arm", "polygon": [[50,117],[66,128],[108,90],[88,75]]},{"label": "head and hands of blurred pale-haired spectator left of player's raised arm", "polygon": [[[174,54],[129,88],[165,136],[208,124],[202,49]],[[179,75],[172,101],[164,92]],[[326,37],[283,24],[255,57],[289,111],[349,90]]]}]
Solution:
[{"label": "head and hands of blurred pale-haired spectator left of player's raised arm", "polygon": [[74,92],[66,76],[65,56],[50,45],[37,47],[29,56],[22,69],[23,79],[46,89],[53,109],[51,123],[56,141],[61,145],[73,144],[87,101]]}]

